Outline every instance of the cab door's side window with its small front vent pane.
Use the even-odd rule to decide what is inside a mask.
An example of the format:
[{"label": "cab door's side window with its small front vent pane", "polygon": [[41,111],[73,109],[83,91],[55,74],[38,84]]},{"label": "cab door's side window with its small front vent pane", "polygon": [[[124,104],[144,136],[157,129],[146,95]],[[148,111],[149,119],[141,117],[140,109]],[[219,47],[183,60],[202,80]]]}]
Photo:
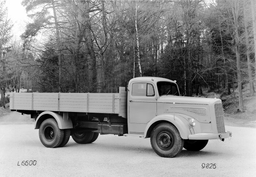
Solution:
[{"label": "cab door's side window with its small front vent pane", "polygon": [[154,96],[155,91],[152,84],[147,83],[133,83],[132,96]]}]

